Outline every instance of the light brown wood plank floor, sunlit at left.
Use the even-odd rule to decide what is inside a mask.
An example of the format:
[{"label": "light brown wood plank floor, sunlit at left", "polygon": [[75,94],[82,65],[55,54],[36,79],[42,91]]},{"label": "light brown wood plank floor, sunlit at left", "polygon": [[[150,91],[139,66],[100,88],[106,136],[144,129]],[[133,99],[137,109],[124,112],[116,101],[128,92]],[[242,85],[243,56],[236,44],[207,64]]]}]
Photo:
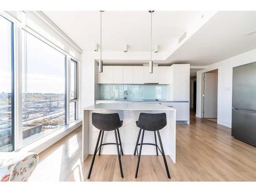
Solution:
[{"label": "light brown wood plank floor, sunlit at left", "polygon": [[29,181],[256,181],[256,147],[231,137],[231,130],[215,122],[196,118],[190,125],[177,125],[176,164],[167,156],[171,179],[166,176],[161,156],[142,156],[135,179],[137,157],[122,156],[121,179],[115,155],[82,163],[81,127],[39,154],[39,164]]}]

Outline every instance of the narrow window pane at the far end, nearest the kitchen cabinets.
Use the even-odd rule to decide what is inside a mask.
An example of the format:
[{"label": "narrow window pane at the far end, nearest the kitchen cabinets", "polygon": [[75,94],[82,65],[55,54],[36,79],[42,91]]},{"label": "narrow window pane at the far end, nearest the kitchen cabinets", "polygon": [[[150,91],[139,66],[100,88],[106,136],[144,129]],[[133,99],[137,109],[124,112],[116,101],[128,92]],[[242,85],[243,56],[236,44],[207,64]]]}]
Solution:
[{"label": "narrow window pane at the far end, nearest the kitchen cabinets", "polygon": [[70,61],[70,104],[69,104],[69,122],[76,120],[77,110],[77,62]]}]

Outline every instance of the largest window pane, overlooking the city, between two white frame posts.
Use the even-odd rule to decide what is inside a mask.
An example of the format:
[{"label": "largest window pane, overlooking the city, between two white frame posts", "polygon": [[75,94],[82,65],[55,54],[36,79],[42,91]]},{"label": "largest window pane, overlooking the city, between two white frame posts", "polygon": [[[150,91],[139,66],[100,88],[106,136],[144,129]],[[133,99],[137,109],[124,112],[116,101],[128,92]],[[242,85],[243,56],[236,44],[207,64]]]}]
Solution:
[{"label": "largest window pane, overlooking the city, between two white frame posts", "polygon": [[23,145],[66,124],[66,55],[23,30]]}]

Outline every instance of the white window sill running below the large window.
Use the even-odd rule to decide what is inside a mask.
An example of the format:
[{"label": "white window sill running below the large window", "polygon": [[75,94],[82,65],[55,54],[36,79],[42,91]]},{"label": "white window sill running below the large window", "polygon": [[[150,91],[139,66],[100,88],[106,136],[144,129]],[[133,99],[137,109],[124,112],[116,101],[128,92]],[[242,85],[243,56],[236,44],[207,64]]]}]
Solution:
[{"label": "white window sill running below the large window", "polygon": [[49,146],[56,143],[58,140],[62,139],[63,137],[77,129],[81,125],[82,120],[76,120],[50,133],[49,135],[46,135],[45,137],[42,137],[32,143],[29,143],[28,145],[20,148],[20,150],[17,150],[15,152],[34,152],[39,154],[42,151],[46,150]]}]

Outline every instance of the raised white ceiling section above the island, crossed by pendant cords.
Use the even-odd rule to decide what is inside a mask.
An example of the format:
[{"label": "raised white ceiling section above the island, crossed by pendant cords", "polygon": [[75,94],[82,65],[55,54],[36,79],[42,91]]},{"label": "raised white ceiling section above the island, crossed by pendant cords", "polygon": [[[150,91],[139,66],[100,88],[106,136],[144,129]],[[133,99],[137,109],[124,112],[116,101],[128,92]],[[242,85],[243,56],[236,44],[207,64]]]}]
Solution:
[{"label": "raised white ceiling section above the island, crossed by pendant cords", "polygon": [[[93,51],[100,40],[99,11],[44,11],[44,13],[84,51]],[[186,30],[199,14],[196,11],[155,11],[153,45],[161,52]],[[105,11],[102,13],[102,51],[150,51],[148,11]]]}]

